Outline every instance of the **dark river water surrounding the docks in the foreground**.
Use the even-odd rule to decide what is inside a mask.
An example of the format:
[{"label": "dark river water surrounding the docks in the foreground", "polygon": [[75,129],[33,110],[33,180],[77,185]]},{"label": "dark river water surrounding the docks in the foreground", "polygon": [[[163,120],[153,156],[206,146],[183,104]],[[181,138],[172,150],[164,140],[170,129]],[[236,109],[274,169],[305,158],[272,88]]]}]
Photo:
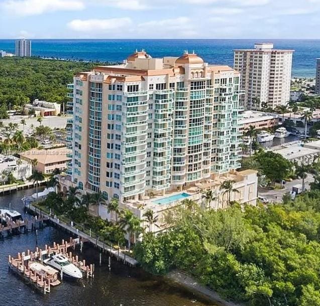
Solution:
[{"label": "dark river water surrounding the docks in the foreground", "polygon": [[[33,194],[34,190],[19,191],[0,197],[0,208],[11,208],[23,213],[21,198]],[[11,204],[9,204],[11,203]],[[68,235],[56,228],[47,226],[38,230],[38,246],[51,245],[54,241],[68,239]],[[8,268],[8,256],[36,248],[36,233],[29,232],[0,241],[0,304],[1,305],[103,305],[103,306],[217,306],[204,296],[190,292],[183,287],[170,283],[161,277],[154,277],[140,268],[130,268],[113,259],[111,271],[108,257],[102,257],[98,265],[99,254],[90,245],[85,245],[80,259],[95,263],[93,279],[79,282],[63,280],[62,284],[51,288],[43,295],[11,272]]]}]

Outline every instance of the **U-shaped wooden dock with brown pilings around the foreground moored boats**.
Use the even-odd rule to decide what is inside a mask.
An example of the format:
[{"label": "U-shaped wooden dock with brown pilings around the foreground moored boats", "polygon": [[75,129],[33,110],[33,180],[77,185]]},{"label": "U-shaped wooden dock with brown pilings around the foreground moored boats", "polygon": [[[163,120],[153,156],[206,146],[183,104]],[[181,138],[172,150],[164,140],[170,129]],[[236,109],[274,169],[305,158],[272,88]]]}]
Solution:
[{"label": "U-shaped wooden dock with brown pilings around the foreground moored boats", "polygon": [[[39,249],[38,247],[34,252],[18,253],[16,258],[9,255],[9,267],[12,271],[16,272],[19,276],[23,277],[27,282],[35,286],[44,294],[50,292],[51,286],[56,286],[62,281],[62,271],[59,272],[54,268],[43,264],[44,257],[50,257],[56,254],[63,254],[68,260],[77,266],[82,272],[83,276],[94,277],[94,264],[86,265],[85,260],[79,261],[78,256],[72,256],[71,252],[68,252],[70,247],[75,248],[75,245],[79,243],[79,239],[73,239],[70,237],[69,242],[62,240],[61,244],[53,243],[53,246],[45,245],[45,249]],[[33,269],[34,265],[38,265],[38,269]],[[57,274],[60,273],[60,280],[57,279]]]}]

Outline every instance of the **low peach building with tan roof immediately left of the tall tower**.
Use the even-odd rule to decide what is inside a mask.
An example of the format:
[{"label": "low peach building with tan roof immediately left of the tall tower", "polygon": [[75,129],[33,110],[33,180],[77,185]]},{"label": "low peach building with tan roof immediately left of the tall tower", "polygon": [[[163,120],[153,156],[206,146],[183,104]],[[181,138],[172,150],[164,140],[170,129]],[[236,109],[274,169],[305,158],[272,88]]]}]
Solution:
[{"label": "low peach building with tan roof immediately left of the tall tower", "polygon": [[31,163],[38,161],[35,169],[44,174],[52,173],[55,169],[63,171],[71,162],[71,150],[66,147],[54,149],[31,149],[21,153],[21,159]]}]

